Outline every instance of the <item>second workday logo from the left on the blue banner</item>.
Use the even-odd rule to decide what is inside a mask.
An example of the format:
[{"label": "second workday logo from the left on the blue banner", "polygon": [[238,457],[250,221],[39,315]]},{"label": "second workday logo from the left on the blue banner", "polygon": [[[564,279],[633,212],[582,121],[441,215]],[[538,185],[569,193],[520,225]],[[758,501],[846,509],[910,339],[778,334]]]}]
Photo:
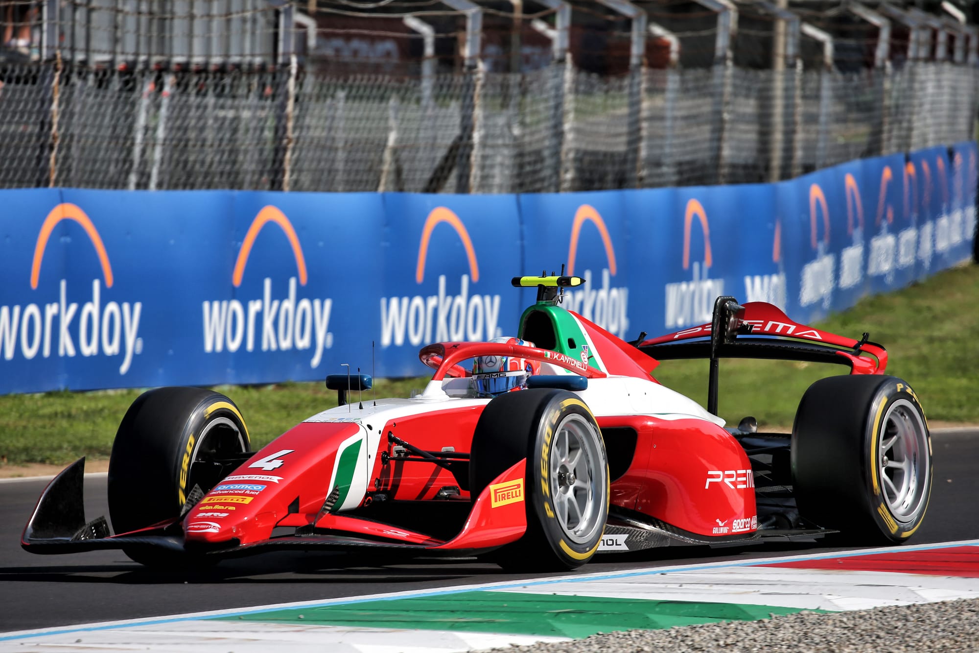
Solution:
[{"label": "second workday logo from the left on the blue banner", "polygon": [[[256,215],[242,241],[238,260],[235,262],[231,281],[237,288],[245,276],[252,247],[262,227],[272,223],[282,229],[296,259],[299,284],[308,280],[303,247],[296,229],[282,211],[274,206],[266,206]],[[319,366],[323,350],[333,346],[330,326],[330,312],[333,300],[330,298],[297,298],[297,277],[290,276],[286,296],[273,299],[272,278],[266,276],[262,282],[262,296],[256,299],[224,299],[204,302],[204,351],[236,352],[245,345],[246,351],[289,351],[312,349],[309,367]],[[281,297],[281,295],[280,295]],[[256,343],[260,332],[261,343]]]}]

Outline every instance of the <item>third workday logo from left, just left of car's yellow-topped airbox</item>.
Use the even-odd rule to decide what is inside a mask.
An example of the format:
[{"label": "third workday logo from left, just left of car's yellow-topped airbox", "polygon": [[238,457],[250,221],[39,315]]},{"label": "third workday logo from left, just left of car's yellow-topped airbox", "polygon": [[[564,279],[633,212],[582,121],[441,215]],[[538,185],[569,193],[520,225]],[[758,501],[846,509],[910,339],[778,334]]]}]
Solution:
[{"label": "third workday logo from left, just left of car's yellow-topped airbox", "polygon": [[418,263],[415,282],[425,280],[425,263],[428,260],[429,241],[439,225],[452,227],[462,241],[469,263],[469,274],[459,279],[457,294],[448,294],[447,280],[439,276],[439,293],[413,297],[381,298],[381,346],[400,346],[405,338],[412,345],[422,342],[448,340],[489,340],[501,335],[496,326],[499,321],[499,295],[469,294],[469,282],[480,280],[476,250],[466,226],[451,210],[440,206],[432,210],[422,228],[418,246]]}]

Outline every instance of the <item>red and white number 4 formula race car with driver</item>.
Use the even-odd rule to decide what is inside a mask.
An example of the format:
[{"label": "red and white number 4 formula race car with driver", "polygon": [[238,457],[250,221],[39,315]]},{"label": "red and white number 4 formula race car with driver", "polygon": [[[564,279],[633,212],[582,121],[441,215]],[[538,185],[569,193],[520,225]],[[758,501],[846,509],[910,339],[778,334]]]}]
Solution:
[{"label": "red and white number 4 formula race car with driver", "polygon": [[[626,342],[561,307],[564,288],[583,279],[513,283],[537,287],[522,340],[422,348],[435,374],[409,399],[355,401],[371,377],[331,375],[340,406],[257,452],[227,397],[142,394],[110,460],[116,534],[105,518],[85,520],[82,458],[44,490],[23,548],[119,548],[151,566],[383,549],[543,571],[670,544],[826,533],[901,542],[920,526],[932,481],[927,423],[908,382],[883,375],[887,354],[867,334],[853,340],[770,304],[719,297],[711,324]],[[810,386],[791,433],[757,432],[752,419],[725,428],[716,415],[725,357],[839,363],[851,374]],[[710,360],[707,410],[652,376],[656,359],[676,358]],[[514,374],[501,361],[534,374],[488,392],[486,382]],[[499,372],[474,375],[479,366]]]}]

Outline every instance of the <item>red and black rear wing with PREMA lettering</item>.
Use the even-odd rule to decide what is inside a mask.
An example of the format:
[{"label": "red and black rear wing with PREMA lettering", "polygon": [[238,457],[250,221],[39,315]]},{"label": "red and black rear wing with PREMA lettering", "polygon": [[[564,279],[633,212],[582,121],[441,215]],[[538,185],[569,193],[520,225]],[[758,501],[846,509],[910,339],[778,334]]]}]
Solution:
[{"label": "red and black rear wing with PREMA lettering", "polygon": [[887,367],[887,351],[868,341],[800,325],[778,307],[718,297],[711,323],[649,338],[636,344],[644,354],[661,361],[707,358],[711,361],[707,410],[717,415],[718,359],[757,358],[849,365],[854,375],[879,375]]}]

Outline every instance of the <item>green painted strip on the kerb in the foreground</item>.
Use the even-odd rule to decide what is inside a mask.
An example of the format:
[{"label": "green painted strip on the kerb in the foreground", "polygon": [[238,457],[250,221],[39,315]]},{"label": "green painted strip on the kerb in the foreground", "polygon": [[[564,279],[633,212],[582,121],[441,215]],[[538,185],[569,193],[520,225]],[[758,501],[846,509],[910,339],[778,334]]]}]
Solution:
[{"label": "green painted strip on the kerb in the foreground", "polygon": [[263,623],[302,622],[306,626],[421,628],[587,637],[613,630],[754,621],[767,619],[773,614],[797,612],[802,611],[798,608],[736,603],[471,591],[273,610],[222,619]]}]

